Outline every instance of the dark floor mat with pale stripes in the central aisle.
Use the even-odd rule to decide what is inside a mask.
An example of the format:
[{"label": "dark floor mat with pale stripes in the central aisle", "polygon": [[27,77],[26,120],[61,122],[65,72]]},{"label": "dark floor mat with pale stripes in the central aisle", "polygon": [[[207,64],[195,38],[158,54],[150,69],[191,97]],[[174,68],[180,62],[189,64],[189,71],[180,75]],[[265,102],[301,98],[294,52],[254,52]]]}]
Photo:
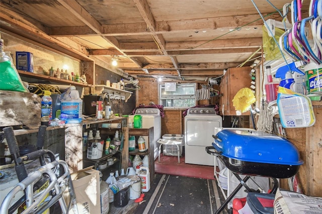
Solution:
[{"label": "dark floor mat with pale stripes in the central aisle", "polygon": [[218,195],[213,182],[209,179],[158,174],[150,191],[145,193],[146,201],[138,205],[135,213],[214,213],[222,195]]}]

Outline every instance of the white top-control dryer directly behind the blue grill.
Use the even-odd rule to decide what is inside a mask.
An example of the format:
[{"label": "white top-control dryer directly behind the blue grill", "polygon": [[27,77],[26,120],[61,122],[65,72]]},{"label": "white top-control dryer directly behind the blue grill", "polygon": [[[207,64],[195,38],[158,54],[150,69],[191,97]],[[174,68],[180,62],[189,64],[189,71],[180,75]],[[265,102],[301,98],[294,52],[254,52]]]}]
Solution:
[{"label": "white top-control dryer directly behind the blue grill", "polygon": [[222,118],[213,108],[190,108],[185,117],[185,162],[214,165],[213,156],[205,147],[211,146],[215,128],[222,127]]}]

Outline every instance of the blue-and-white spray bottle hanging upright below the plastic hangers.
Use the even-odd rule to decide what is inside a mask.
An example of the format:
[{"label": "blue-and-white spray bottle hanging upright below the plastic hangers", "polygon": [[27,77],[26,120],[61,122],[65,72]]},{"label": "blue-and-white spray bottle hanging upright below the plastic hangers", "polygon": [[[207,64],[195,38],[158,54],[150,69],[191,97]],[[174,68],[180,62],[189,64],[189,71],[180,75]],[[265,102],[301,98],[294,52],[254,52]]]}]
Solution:
[{"label": "blue-and-white spray bottle hanging upright below the plastic hangers", "polygon": [[284,128],[310,127],[315,123],[311,100],[294,91],[294,78],[292,71],[304,75],[298,69],[303,62],[292,62],[277,69],[275,76],[281,78],[278,86],[277,106]]}]

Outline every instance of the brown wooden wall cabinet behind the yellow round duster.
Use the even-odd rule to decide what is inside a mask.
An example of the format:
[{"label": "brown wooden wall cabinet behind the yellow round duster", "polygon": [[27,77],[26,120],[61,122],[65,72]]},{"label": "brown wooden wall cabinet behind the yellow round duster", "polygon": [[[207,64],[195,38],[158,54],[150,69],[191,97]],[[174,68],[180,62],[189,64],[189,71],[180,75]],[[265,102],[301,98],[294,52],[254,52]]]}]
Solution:
[{"label": "brown wooden wall cabinet behind the yellow round duster", "polygon": [[[229,68],[220,82],[220,115],[237,115],[232,99],[239,89],[251,86],[251,67]],[[250,112],[241,115],[250,115]]]}]

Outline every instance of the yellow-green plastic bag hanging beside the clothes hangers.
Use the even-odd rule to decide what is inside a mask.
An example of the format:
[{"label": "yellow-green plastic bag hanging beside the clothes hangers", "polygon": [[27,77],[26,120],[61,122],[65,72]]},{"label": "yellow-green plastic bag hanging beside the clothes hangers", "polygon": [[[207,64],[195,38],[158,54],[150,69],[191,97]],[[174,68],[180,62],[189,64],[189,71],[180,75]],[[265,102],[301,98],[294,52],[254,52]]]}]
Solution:
[{"label": "yellow-green plastic bag hanging beside the clothes hangers", "polygon": [[275,28],[275,36],[270,37],[268,35],[267,28],[265,26],[263,28],[263,49],[265,53],[265,59],[266,60],[278,60],[282,59],[281,51],[279,50],[279,45],[276,44],[275,40],[278,42],[280,39],[280,36],[282,36],[283,33],[285,33],[284,30]]}]

